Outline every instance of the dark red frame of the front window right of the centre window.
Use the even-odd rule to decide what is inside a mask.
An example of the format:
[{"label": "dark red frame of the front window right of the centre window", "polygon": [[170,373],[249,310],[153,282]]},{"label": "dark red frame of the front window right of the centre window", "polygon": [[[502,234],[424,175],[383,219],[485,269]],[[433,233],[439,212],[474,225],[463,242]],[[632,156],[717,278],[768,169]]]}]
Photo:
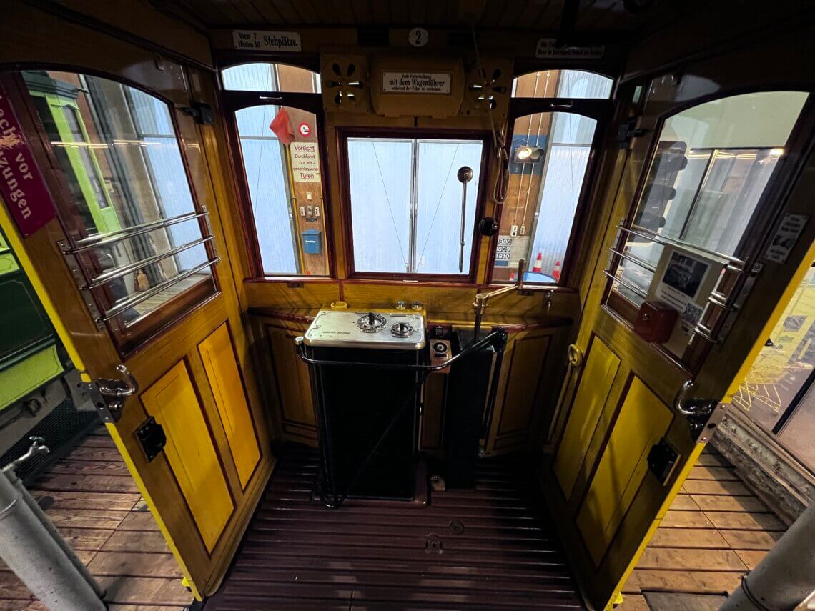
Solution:
[{"label": "dark red frame of the front window right of the centre window", "polygon": [[[540,70],[558,69],[558,68],[539,68]],[[576,69],[576,68],[559,68],[559,69]],[[535,72],[535,71],[532,71]],[[523,73],[528,74],[528,72]],[[514,78],[523,76],[517,74]],[[601,73],[597,73],[601,74]],[[606,74],[601,74],[606,77]],[[615,86],[612,85],[612,94],[615,92]],[[569,240],[566,244],[566,254],[563,256],[561,265],[560,281],[554,284],[525,284],[524,288],[530,290],[551,291],[554,289],[562,288],[576,288],[576,280],[579,279],[579,270],[575,269],[573,263],[579,261],[579,253],[582,250],[584,240],[588,240],[588,235],[583,237],[579,236],[578,228],[583,226],[588,220],[589,209],[592,207],[593,200],[597,193],[596,178],[599,176],[601,159],[602,159],[602,143],[606,137],[606,127],[610,121],[610,117],[614,112],[614,99],[591,99],[591,98],[512,98],[509,100],[509,112],[507,121],[509,125],[509,132],[506,136],[505,151],[507,158],[512,159],[512,141],[515,131],[515,121],[522,116],[535,115],[540,112],[568,112],[580,116],[586,116],[594,121],[597,125],[594,128],[594,135],[592,138],[591,147],[588,152],[588,161],[586,162],[586,173],[584,174],[583,184],[580,187],[580,193],[577,198],[577,207],[575,209],[575,218],[571,223],[571,230],[569,232]],[[544,177],[545,178],[545,177]],[[541,183],[541,186],[543,182]],[[504,206],[496,206],[496,222],[500,226],[501,216],[504,213]],[[540,220],[540,219],[539,219]],[[490,239],[489,252],[487,257],[487,284],[496,286],[506,286],[506,283],[501,282],[496,284],[493,281],[496,263],[496,248],[498,246],[499,235],[493,235]],[[527,262],[529,266],[529,262]]]}]

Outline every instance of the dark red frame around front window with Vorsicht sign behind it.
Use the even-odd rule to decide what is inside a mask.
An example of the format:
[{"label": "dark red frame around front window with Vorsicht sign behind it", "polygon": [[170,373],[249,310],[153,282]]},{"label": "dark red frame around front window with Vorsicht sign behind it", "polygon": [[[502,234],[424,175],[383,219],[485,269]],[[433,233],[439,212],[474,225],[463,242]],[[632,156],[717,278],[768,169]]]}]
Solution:
[{"label": "dark red frame around front window with Vorsicht sign behind it", "polygon": [[[263,57],[254,61],[247,61],[241,57],[240,62],[218,65],[218,84],[220,89],[218,95],[221,99],[224,111],[223,121],[227,135],[227,152],[229,154],[232,175],[235,178],[236,196],[238,200],[238,211],[240,213],[240,226],[244,235],[249,256],[249,279],[254,282],[326,282],[336,278],[336,264],[334,255],[334,242],[332,233],[332,208],[328,196],[328,157],[326,156],[326,126],[325,110],[323,106],[322,94],[293,93],[284,91],[247,91],[247,90],[227,90],[223,87],[222,70],[234,68],[245,64],[256,64],[258,62],[266,64],[288,64],[296,68],[305,68],[319,75],[319,68],[315,70],[311,65],[304,66],[291,61],[276,61],[274,58]],[[252,210],[252,198],[249,192],[249,183],[246,179],[246,172],[243,162],[242,149],[240,147],[240,134],[238,133],[238,123],[236,112],[244,108],[254,106],[284,106],[297,108],[306,112],[311,112],[315,116],[315,127],[317,130],[317,144],[319,146],[320,163],[320,189],[323,196],[324,215],[324,235],[326,244],[326,264],[328,267],[325,275],[267,275],[263,270],[263,262],[258,241],[258,231],[256,229],[255,217]],[[289,178],[286,178],[288,180]],[[299,239],[299,236],[296,236]]]}]

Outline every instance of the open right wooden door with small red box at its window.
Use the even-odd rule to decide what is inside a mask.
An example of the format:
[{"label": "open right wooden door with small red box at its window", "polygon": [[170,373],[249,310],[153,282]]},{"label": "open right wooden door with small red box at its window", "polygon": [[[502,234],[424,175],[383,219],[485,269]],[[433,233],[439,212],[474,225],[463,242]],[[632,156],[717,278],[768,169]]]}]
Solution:
[{"label": "open right wooden door with small red box at its window", "polygon": [[[801,85],[800,66],[773,79],[747,65],[721,57],[637,95],[622,90],[638,99],[629,108],[640,131],[615,153],[623,170],[541,472],[594,609],[617,600],[738,389],[742,363],[764,344],[774,307],[812,262],[811,220],[792,238],[782,226],[800,228],[813,213],[813,84]],[[684,268],[669,271],[679,260],[708,266],[693,288]],[[633,332],[641,303],[676,287],[688,293],[677,323],[687,332],[645,341]]]}]

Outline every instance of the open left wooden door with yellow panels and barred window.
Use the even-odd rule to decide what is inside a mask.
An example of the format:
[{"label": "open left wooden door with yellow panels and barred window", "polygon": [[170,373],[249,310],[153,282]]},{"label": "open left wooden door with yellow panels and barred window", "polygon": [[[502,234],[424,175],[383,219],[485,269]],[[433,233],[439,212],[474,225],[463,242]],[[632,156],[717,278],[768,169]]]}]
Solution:
[{"label": "open left wooden door with yellow panels and barred window", "polygon": [[[28,237],[6,206],[0,224],[200,599],[218,587],[274,460],[227,262],[213,128],[178,110],[191,107],[191,81],[196,101],[214,104],[214,82],[134,47],[113,45],[105,62],[0,77],[56,210]],[[140,80],[121,77],[121,65]],[[36,88],[73,96],[82,141],[50,130]],[[93,189],[75,188],[90,178]],[[117,228],[83,213],[88,197],[116,213]],[[96,382],[130,393],[120,411],[101,403]],[[144,438],[159,427],[163,447]]]}]

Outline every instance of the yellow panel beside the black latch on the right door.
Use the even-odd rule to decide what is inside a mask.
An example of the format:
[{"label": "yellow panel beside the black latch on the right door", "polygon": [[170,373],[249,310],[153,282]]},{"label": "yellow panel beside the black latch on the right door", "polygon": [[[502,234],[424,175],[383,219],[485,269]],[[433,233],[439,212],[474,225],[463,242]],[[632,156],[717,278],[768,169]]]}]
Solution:
[{"label": "yellow panel beside the black latch on the right door", "polygon": [[667,432],[672,411],[634,377],[600,458],[577,525],[595,565],[599,565],[617,527],[648,470],[651,446]]}]

